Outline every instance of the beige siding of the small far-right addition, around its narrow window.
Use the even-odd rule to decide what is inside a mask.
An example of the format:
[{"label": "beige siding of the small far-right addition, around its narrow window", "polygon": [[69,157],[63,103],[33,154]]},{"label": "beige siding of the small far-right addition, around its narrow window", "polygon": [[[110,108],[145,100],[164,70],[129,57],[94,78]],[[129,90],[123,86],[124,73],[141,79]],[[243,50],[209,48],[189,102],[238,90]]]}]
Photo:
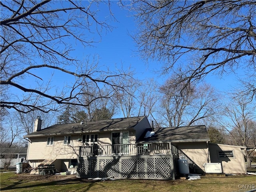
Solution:
[{"label": "beige siding of the small far-right addition, around its narrow window", "polygon": [[[246,174],[244,155],[240,146],[209,144],[210,159],[212,163],[221,163],[224,173]],[[220,158],[218,152],[233,151],[234,157]]]}]

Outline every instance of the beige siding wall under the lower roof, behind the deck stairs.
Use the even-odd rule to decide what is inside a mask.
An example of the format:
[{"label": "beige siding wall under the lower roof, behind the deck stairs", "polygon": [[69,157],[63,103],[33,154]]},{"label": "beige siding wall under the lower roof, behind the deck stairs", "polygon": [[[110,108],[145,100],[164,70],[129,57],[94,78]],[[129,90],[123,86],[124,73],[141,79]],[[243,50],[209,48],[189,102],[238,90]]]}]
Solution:
[{"label": "beige siding wall under the lower roof, behind the deck stairs", "polygon": [[206,142],[175,143],[195,164],[196,172],[204,172],[204,163],[207,163],[208,148]]}]

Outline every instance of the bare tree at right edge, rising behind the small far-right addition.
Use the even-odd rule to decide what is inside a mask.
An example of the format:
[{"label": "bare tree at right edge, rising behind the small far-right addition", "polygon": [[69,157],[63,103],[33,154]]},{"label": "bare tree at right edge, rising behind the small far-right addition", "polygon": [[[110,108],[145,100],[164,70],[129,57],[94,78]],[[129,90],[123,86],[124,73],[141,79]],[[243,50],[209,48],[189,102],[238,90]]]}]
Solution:
[{"label": "bare tree at right edge, rising behind the small far-right addition", "polygon": [[[225,118],[219,122],[230,134],[232,144],[247,148],[256,144],[256,103],[254,100],[248,102],[247,97],[238,94],[239,92],[235,92],[232,100],[224,105]],[[253,151],[245,150],[248,167],[251,167],[250,158]]]}]

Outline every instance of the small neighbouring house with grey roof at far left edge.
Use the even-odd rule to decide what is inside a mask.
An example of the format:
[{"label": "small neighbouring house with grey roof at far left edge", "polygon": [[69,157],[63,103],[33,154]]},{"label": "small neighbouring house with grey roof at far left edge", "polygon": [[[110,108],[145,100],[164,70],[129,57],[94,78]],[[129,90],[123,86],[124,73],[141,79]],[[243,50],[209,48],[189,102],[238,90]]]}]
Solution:
[{"label": "small neighbouring house with grey roof at far left edge", "polygon": [[1,167],[14,167],[16,163],[26,160],[27,147],[1,148]]}]

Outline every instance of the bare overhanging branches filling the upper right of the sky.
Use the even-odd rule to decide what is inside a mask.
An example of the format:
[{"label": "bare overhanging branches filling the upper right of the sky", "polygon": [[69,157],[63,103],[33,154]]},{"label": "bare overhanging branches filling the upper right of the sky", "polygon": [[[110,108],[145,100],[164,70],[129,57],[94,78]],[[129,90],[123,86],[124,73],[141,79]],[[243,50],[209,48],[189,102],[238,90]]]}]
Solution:
[{"label": "bare overhanging branches filling the upper right of the sky", "polygon": [[132,8],[139,51],[145,59],[164,61],[163,73],[182,66],[184,80],[197,81],[211,72],[256,71],[254,0],[139,0]]}]

